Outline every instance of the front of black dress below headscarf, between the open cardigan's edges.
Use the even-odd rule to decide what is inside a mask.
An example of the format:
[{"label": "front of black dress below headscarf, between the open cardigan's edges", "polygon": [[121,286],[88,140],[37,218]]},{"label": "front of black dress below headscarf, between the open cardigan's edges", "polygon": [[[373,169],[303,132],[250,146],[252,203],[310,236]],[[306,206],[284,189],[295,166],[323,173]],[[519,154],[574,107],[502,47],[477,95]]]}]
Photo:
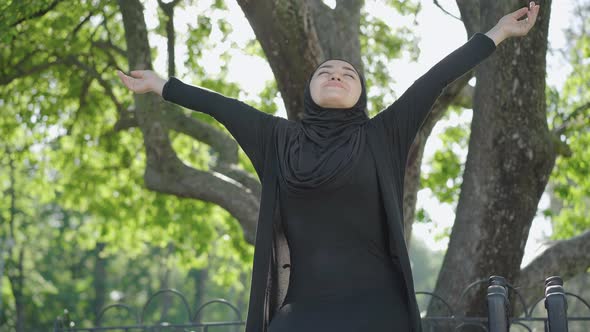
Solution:
[{"label": "front of black dress below headscarf, between the open cardigan's edges", "polygon": [[299,197],[280,188],[291,274],[269,332],[409,330],[374,161],[364,151],[337,190]]}]

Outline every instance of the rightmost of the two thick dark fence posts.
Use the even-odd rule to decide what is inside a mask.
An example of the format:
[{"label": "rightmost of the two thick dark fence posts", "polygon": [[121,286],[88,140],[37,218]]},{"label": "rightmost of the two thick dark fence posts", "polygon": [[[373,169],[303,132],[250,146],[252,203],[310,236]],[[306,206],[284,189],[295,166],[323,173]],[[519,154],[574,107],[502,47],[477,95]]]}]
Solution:
[{"label": "rightmost of the two thick dark fence posts", "polygon": [[563,279],[559,276],[545,279],[545,309],[547,309],[545,331],[567,332],[567,300]]}]

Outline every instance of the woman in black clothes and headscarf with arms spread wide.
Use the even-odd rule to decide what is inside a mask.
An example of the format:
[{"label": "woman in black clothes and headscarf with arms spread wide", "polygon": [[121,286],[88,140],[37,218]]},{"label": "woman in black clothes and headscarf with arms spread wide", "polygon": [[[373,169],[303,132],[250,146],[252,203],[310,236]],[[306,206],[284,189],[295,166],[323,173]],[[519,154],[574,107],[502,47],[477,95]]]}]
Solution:
[{"label": "woman in black clothes and headscarf with arms spread wide", "polygon": [[538,11],[531,2],[474,34],[371,119],[362,75],[340,59],[312,73],[300,122],[149,70],[118,73],[223,123],[261,179],[247,332],[421,331],[402,229],[409,148],[442,89],[526,35]]}]

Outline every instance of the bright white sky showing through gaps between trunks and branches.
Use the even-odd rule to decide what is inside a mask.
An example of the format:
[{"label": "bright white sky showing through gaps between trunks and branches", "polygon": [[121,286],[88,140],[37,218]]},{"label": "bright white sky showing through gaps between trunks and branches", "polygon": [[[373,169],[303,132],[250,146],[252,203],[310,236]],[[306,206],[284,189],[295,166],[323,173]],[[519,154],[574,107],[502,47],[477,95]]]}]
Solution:
[{"label": "bright white sky showing through gaps between trunks and branches", "polygon": [[[182,42],[182,37],[187,30],[187,24],[194,24],[195,13],[203,12],[210,7],[213,0],[197,1],[196,8],[191,7],[186,10],[177,10],[175,16],[175,30],[177,32],[177,50],[176,63],[178,66],[177,77],[181,80],[190,83],[188,77],[188,69],[183,66],[186,59],[187,48]],[[551,20],[549,25],[549,49],[547,55],[547,80],[548,84],[561,87],[567,78],[568,64],[564,62],[558,55],[558,52],[552,50],[559,50],[565,46],[565,36],[563,31],[568,26],[568,21],[571,17],[571,8],[576,0],[559,0],[553,1],[553,8],[551,9]],[[329,6],[334,6],[334,0],[324,1]],[[387,8],[383,5],[383,1],[367,0],[366,9],[371,15],[389,22],[392,28],[400,25],[412,25],[411,18],[398,15],[393,9]],[[448,12],[455,16],[459,15],[456,2],[454,0],[439,0],[438,3],[444,7]],[[559,3],[559,5],[557,5]],[[233,26],[233,32],[225,44],[222,44],[218,49],[207,51],[204,54],[203,63],[206,64],[207,74],[216,75],[219,72],[220,63],[219,55],[224,49],[231,48],[230,41],[234,41],[237,47],[231,48],[232,61],[229,64],[230,81],[236,82],[242,88],[239,96],[240,99],[256,100],[257,94],[264,88],[265,82],[273,80],[272,71],[266,60],[259,57],[249,56],[243,53],[242,49],[246,46],[248,40],[254,38],[254,33],[248,24],[247,19],[242,13],[241,9],[235,1],[227,1],[229,7],[228,21]],[[146,23],[148,28],[154,28],[157,25],[156,1],[146,1]],[[543,7],[541,6],[541,10]],[[508,13],[506,13],[508,14]],[[219,13],[212,13],[211,18],[216,18]],[[498,17],[500,19],[500,17]],[[405,91],[418,77],[426,73],[429,68],[451,53],[456,48],[464,44],[468,36],[466,35],[463,24],[451,16],[445,14],[440,8],[434,5],[433,1],[422,1],[422,10],[417,17],[418,25],[414,27],[414,31],[419,36],[420,57],[417,62],[411,62],[409,56],[404,54],[401,59],[392,60],[389,64],[389,71],[392,75],[392,95],[390,101],[395,100]],[[444,31],[443,40],[441,43],[441,31]],[[481,31],[482,33],[485,31]],[[221,34],[219,31],[213,31],[210,38],[212,40],[219,40]],[[150,42],[152,46],[158,48],[158,56],[154,62],[155,71],[162,77],[166,77],[166,44],[163,37],[151,34]],[[183,77],[184,76],[184,77]],[[186,78],[186,79],[185,79]],[[474,83],[473,79],[470,83]],[[286,112],[282,101],[277,98],[275,100],[279,107],[278,116],[286,117]],[[437,139],[447,126],[457,125],[460,123],[468,124],[471,121],[471,111],[466,111],[462,116],[451,116],[447,121],[439,122],[428,140],[424,161],[428,161],[434,152],[442,145]],[[467,151],[458,151],[465,160]],[[423,165],[423,170],[427,170],[427,165]],[[543,196],[539,204],[540,209],[546,208],[549,200]],[[430,215],[431,223],[416,223],[413,227],[413,233],[416,237],[422,239],[428,244],[432,250],[444,250],[448,244],[448,239],[436,240],[437,235],[445,228],[449,228],[453,224],[455,217],[454,209],[451,205],[441,204],[431,194],[428,189],[423,189],[418,192],[418,208],[424,208]],[[548,219],[539,216],[534,219],[530,232],[530,237],[525,248],[525,255],[523,258],[523,265],[530,262],[536,255],[540,254],[545,248],[544,240],[551,235],[551,224]]]}]

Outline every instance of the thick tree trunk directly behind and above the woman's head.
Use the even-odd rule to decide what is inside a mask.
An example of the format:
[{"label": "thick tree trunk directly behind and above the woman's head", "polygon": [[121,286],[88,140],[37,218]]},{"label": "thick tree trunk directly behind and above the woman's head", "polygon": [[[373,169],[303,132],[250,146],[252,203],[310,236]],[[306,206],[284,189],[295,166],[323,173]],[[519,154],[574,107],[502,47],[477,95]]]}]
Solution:
[{"label": "thick tree trunk directly behind and above the woman's head", "polygon": [[303,91],[324,59],[342,57],[362,69],[359,24],[363,1],[238,0],[277,80],[288,118],[301,119]]}]

